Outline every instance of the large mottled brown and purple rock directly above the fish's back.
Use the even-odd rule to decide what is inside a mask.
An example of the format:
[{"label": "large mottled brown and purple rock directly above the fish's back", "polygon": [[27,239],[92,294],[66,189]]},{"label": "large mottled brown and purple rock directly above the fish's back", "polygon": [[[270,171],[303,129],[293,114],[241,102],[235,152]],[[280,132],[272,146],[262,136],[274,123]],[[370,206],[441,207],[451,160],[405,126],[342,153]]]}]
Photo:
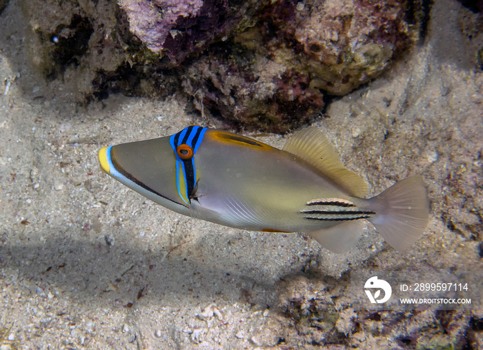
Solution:
[{"label": "large mottled brown and purple rock directly above the fish's back", "polygon": [[195,105],[250,129],[286,132],[324,94],[346,94],[410,47],[401,1],[277,1],[187,69]]}]

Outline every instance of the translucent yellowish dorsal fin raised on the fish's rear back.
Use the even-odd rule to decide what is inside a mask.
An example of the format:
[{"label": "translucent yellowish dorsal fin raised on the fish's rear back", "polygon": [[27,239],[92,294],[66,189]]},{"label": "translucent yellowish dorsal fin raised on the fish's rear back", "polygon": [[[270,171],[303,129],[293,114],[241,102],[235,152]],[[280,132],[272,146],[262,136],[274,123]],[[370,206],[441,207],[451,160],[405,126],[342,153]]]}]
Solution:
[{"label": "translucent yellowish dorsal fin raised on the fish's rear back", "polygon": [[285,144],[284,151],[316,167],[351,196],[364,197],[367,194],[367,184],[359,175],[344,167],[334,147],[317,127],[295,132]]}]

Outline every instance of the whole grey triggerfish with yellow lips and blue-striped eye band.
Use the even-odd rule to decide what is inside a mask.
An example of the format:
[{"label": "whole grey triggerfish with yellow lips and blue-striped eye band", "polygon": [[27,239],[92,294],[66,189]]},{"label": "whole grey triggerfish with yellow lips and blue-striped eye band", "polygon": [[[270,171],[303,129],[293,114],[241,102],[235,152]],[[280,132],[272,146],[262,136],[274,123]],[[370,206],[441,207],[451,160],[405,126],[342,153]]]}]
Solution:
[{"label": "whole grey triggerfish with yellow lips and blue-striped eye band", "polygon": [[282,150],[200,125],[171,136],[102,147],[103,172],[174,212],[250,231],[305,232],[335,253],[351,249],[368,220],[406,251],[424,234],[422,176],[364,198],[368,185],[344,167],[319,128],[295,132]]}]

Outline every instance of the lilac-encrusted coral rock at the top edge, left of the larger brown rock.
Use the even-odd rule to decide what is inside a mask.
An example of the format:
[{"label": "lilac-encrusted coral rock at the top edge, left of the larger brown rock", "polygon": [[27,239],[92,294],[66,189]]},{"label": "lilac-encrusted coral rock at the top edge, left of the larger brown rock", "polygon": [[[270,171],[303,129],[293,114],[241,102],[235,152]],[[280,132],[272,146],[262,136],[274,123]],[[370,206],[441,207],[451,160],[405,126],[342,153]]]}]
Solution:
[{"label": "lilac-encrusted coral rock at the top edge, left of the larger brown rock", "polygon": [[129,30],[152,52],[174,67],[187,56],[206,49],[216,37],[230,32],[239,16],[262,6],[264,1],[247,1],[228,6],[226,0],[119,0]]}]

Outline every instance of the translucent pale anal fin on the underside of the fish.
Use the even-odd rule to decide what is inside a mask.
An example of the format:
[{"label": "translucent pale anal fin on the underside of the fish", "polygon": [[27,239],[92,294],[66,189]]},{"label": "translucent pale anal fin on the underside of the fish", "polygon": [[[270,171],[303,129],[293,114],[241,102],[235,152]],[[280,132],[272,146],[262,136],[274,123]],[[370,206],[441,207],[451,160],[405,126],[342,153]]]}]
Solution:
[{"label": "translucent pale anal fin on the underside of the fish", "polygon": [[364,223],[361,220],[345,221],[333,227],[307,232],[322,247],[341,254],[351,249],[362,234]]}]

